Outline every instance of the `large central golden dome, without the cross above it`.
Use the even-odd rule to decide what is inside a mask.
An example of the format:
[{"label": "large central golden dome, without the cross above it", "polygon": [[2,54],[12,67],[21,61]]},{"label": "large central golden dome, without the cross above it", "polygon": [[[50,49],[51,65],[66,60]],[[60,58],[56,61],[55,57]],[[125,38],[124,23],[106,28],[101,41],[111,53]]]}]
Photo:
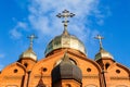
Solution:
[{"label": "large central golden dome, without the cross above it", "polygon": [[49,42],[44,53],[48,55],[52,51],[60,48],[70,48],[86,54],[84,45],[77,37],[69,35],[67,29],[64,29],[62,35],[56,36]]}]

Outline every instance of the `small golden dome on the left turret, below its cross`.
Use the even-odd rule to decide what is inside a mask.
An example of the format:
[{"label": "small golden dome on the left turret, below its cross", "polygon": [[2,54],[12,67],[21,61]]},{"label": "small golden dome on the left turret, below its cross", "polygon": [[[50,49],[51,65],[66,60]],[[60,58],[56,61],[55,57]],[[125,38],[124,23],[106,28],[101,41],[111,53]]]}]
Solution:
[{"label": "small golden dome on the left turret, below its cross", "polygon": [[21,59],[28,59],[28,58],[37,61],[37,55],[36,55],[36,53],[32,51],[32,48],[28,48],[25,52],[23,52],[23,53],[20,55],[20,60],[21,60]]}]

